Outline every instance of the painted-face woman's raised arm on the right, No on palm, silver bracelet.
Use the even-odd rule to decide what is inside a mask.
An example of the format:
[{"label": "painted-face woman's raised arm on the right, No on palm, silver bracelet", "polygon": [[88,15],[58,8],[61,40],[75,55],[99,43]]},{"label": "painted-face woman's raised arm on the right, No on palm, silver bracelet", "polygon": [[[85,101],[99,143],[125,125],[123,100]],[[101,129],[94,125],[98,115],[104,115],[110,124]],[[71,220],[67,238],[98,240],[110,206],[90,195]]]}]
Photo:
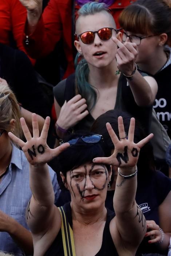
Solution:
[{"label": "painted-face woman's raised arm on the right, No on palm, silver bracelet", "polygon": [[111,222],[110,231],[120,255],[130,255],[128,252],[135,253],[146,233],[146,219],[135,202],[137,187],[136,163],[140,148],[153,135],[150,134],[135,144],[134,127],[135,119],[131,118],[127,139],[122,117],[119,117],[119,140],[111,125],[107,123],[107,129],[115,147],[114,154],[109,158],[95,159],[95,162],[103,162],[119,167],[114,195],[116,218]]}]

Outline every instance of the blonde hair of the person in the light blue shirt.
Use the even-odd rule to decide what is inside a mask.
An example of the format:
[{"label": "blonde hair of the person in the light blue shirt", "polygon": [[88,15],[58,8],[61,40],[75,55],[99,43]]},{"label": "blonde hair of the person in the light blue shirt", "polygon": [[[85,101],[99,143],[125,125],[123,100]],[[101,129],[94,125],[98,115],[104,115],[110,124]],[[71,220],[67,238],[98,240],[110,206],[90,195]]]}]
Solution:
[{"label": "blonde hair of the person in the light blue shirt", "polygon": [[[13,132],[17,137],[22,137],[20,125],[20,108],[17,99],[9,88],[8,84],[0,84],[0,129]],[[15,127],[10,124],[11,119],[15,119]],[[12,130],[13,129],[13,130]]]}]

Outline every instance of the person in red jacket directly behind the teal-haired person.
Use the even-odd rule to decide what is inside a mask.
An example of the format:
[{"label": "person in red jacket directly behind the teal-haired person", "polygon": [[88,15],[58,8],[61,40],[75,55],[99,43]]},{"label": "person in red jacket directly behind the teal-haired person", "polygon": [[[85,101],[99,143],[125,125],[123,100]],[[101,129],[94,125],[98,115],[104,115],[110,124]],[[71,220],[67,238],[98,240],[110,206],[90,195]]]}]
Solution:
[{"label": "person in red jacket directly behind the teal-haired person", "polygon": [[[99,0],[109,6],[118,27],[118,16],[127,5],[135,0]],[[62,39],[67,69],[64,77],[72,74],[74,69],[75,18],[77,10],[87,0],[50,0],[42,14],[42,0],[20,0],[27,9],[27,21],[23,44],[32,58],[47,56],[56,43]],[[72,18],[73,17],[73,18]]]}]

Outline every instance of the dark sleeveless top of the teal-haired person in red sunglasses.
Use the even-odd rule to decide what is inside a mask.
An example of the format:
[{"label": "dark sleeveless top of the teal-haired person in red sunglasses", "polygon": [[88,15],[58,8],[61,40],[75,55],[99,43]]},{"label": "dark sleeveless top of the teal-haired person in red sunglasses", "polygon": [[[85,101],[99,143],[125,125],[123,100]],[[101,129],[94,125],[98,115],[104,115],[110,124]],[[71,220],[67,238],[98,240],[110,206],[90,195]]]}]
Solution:
[{"label": "dark sleeveless top of the teal-haired person in red sunglasses", "polygon": [[[142,73],[142,75],[145,74]],[[67,79],[61,81],[59,84],[53,87],[53,94],[60,107],[63,106],[65,100],[69,101],[69,99],[73,98],[76,95],[75,75],[72,74]],[[136,118],[136,120],[139,120],[142,127],[148,133],[151,122],[152,106],[140,107],[136,104],[130,86],[128,86],[127,80],[122,74],[120,75],[118,82],[118,90],[114,109],[119,109],[130,113],[131,116]],[[88,131],[90,130],[94,121],[94,118],[89,113],[85,118],[83,118],[83,120],[81,120],[78,124],[75,125],[75,127],[73,127],[73,131]]]}]

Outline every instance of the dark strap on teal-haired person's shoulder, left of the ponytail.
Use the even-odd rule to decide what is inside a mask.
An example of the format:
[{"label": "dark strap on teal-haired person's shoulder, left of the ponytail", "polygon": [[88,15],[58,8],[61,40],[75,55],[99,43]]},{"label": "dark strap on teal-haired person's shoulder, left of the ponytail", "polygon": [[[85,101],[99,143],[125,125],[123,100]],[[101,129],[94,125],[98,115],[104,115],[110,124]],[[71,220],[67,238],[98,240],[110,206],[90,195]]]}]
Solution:
[{"label": "dark strap on teal-haired person's shoulder, left of the ponytail", "polygon": [[69,101],[75,96],[75,73],[68,76],[66,80],[64,102]]}]

